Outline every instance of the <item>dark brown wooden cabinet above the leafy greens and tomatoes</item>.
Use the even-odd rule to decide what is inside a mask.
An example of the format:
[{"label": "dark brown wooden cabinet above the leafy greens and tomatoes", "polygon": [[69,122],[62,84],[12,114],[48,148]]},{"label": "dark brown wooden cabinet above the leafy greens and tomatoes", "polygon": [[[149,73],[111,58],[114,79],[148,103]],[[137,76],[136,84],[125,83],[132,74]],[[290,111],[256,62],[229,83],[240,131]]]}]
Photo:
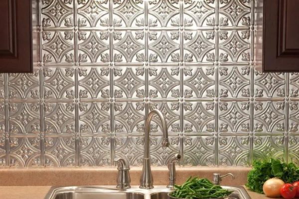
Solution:
[{"label": "dark brown wooden cabinet above the leafy greens and tomatoes", "polygon": [[257,47],[262,48],[263,72],[299,72],[299,0],[262,1],[263,35]]}]

